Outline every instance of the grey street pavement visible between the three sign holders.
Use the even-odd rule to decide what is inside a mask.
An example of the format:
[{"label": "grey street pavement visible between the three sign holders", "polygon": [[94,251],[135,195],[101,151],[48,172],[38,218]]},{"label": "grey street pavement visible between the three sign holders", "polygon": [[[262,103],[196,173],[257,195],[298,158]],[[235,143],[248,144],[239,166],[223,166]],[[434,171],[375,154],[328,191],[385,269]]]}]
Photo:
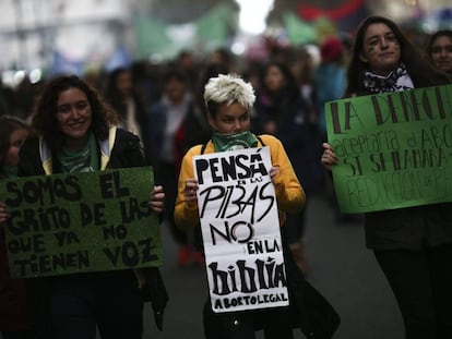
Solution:
[{"label": "grey street pavement visible between the three sign holders", "polygon": [[[143,339],[202,339],[202,307],[207,287],[202,267],[180,268],[177,246],[162,226],[162,274],[169,293],[164,331],[159,332],[148,304]],[[307,279],[333,304],[342,323],[334,339],[401,339],[403,324],[394,296],[370,250],[360,222],[335,223],[323,196],[309,201],[305,234]],[[305,338],[295,330],[295,339]],[[258,334],[257,338],[263,338]]]}]

